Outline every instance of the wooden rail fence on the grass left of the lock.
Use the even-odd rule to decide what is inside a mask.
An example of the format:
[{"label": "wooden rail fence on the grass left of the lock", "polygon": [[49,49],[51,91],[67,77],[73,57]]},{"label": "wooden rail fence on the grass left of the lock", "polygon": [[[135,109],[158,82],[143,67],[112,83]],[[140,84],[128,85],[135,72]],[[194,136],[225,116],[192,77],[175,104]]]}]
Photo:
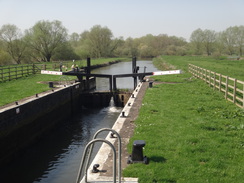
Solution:
[{"label": "wooden rail fence on the grass left of the lock", "polygon": [[36,74],[38,70],[34,64],[3,66],[0,67],[0,82]]}]

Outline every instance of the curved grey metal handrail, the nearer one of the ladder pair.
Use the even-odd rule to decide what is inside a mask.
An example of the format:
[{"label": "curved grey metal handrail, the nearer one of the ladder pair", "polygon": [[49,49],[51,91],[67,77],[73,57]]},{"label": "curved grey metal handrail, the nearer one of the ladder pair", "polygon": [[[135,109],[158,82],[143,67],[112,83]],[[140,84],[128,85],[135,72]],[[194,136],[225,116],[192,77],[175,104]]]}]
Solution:
[{"label": "curved grey metal handrail, the nearer one of the ladder pair", "polygon": [[[105,140],[105,139],[93,139],[91,140],[85,147],[85,150],[84,150],[84,154],[82,156],[82,160],[81,160],[81,164],[80,164],[80,169],[79,169],[79,173],[78,173],[78,176],[77,176],[77,179],[76,179],[76,183],[79,183],[80,181],[80,178],[81,178],[81,173],[82,173],[82,169],[84,168],[84,162],[85,162],[85,159],[86,159],[86,154],[87,154],[87,151],[88,151],[88,147],[92,144],[94,144],[95,142],[105,142],[106,144],[108,144],[112,150],[113,150],[113,182],[116,183],[116,150],[115,150],[115,147],[114,145],[109,142],[108,140]],[[89,161],[90,158],[87,158],[87,161]],[[85,178],[87,177],[87,167],[85,169]],[[85,179],[85,183],[87,183],[87,180]]]}]

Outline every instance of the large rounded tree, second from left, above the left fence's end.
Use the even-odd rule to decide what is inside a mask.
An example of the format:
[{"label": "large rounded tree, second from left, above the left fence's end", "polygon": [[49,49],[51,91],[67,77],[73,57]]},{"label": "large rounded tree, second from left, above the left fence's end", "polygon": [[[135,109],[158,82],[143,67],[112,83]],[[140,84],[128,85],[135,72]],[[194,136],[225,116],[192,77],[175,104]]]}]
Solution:
[{"label": "large rounded tree, second from left, above the left fence's end", "polygon": [[50,61],[56,49],[67,41],[67,30],[58,20],[39,21],[26,31],[26,39],[38,60]]}]

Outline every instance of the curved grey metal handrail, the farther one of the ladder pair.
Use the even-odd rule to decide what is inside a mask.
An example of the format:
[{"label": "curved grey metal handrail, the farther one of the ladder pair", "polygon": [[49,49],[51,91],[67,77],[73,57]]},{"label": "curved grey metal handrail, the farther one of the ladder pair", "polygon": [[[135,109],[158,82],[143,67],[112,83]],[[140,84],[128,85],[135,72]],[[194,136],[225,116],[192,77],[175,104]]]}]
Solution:
[{"label": "curved grey metal handrail, the farther one of the ladder pair", "polygon": [[[98,134],[103,132],[103,131],[111,131],[112,133],[116,134],[116,136],[118,137],[118,181],[119,181],[119,183],[121,183],[121,137],[118,134],[118,132],[116,132],[113,129],[102,128],[94,134],[93,139],[96,139]],[[88,160],[91,158],[92,149],[93,149],[93,144],[91,145],[91,151],[88,154],[88,158],[87,158]],[[86,166],[85,166],[86,169],[88,169],[88,164],[89,164],[89,162],[87,161]],[[85,177],[85,179],[87,180],[87,177]]]}]

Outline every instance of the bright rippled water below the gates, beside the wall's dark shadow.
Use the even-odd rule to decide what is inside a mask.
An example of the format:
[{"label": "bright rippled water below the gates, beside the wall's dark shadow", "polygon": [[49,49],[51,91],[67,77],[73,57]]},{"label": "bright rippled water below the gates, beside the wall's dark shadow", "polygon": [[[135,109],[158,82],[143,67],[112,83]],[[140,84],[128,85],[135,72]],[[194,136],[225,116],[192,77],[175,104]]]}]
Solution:
[{"label": "bright rippled water below the gates, beside the wall's dark shadow", "polygon": [[[72,125],[68,126],[68,133],[73,134],[70,145],[57,159],[49,163],[44,175],[35,182],[65,183],[75,180],[79,169],[84,146],[90,141],[93,134],[101,128],[113,126],[121,109],[110,106],[103,109],[83,109],[84,115],[77,115]],[[60,136],[67,129],[61,130]],[[63,139],[64,140],[64,139]]]}]

